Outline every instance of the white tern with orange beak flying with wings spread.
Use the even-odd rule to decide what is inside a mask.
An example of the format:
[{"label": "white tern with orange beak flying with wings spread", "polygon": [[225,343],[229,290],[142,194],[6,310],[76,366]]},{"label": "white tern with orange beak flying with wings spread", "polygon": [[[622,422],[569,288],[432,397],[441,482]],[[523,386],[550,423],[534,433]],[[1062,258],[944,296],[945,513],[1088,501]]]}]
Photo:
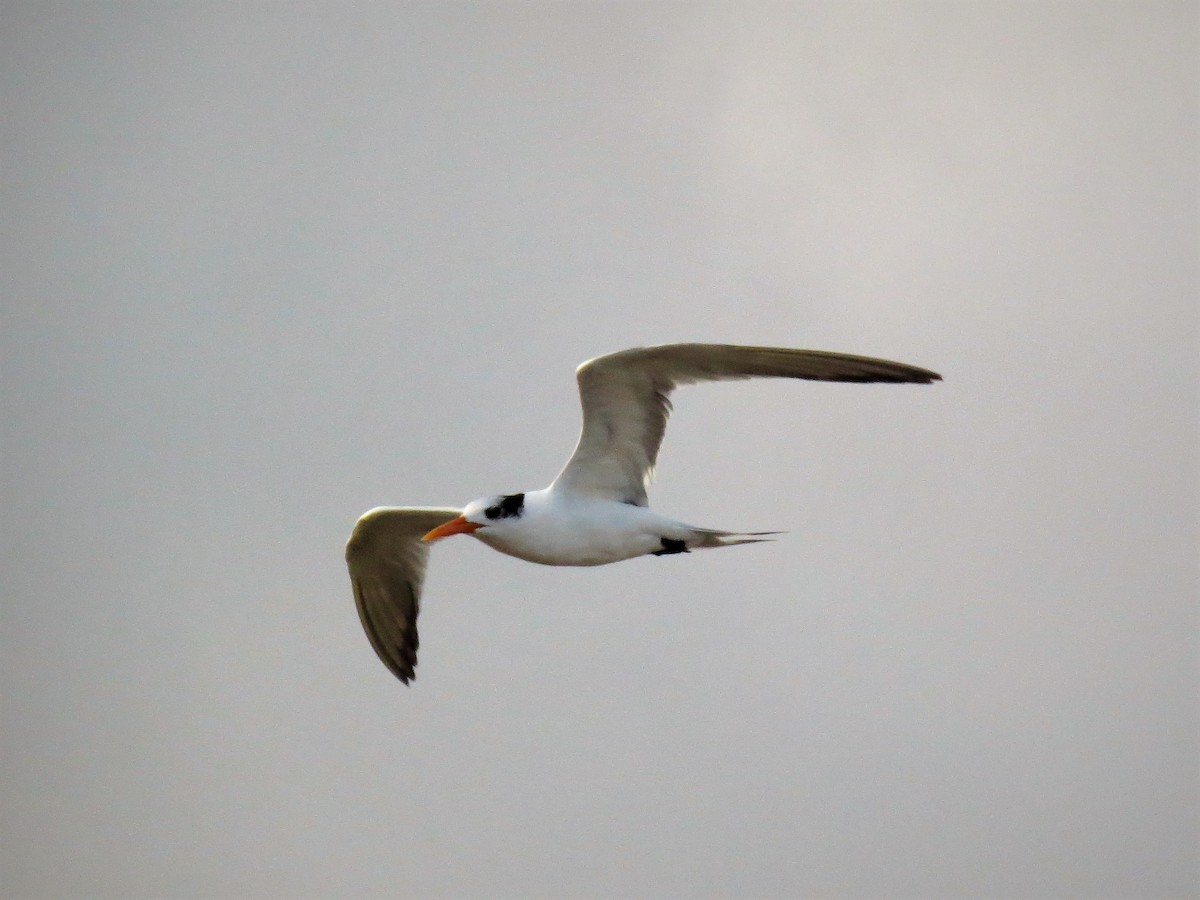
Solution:
[{"label": "white tern with orange beak flying with wings spread", "polygon": [[870,356],[710,343],[619,350],[581,364],[575,377],[583,427],[548,487],[493,494],[463,508],[377,506],[354,524],[346,562],[359,618],[380,661],[404,684],[416,677],[416,618],[434,541],[468,534],[530,563],[594,566],[778,534],[700,528],[649,508],[647,488],[676,388],[745,378],[941,380],[936,372]]}]

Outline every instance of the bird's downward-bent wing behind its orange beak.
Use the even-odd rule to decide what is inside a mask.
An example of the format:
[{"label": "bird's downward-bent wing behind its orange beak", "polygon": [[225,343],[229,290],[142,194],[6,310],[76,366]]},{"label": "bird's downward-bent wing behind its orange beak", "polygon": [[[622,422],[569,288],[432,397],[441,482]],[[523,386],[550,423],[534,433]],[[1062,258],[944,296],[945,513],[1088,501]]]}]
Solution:
[{"label": "bird's downward-bent wing behind its orange beak", "polygon": [[365,514],[346,544],[362,629],[379,659],[404,684],[416,677],[416,613],[430,545],[421,535],[461,510],[380,506]]}]

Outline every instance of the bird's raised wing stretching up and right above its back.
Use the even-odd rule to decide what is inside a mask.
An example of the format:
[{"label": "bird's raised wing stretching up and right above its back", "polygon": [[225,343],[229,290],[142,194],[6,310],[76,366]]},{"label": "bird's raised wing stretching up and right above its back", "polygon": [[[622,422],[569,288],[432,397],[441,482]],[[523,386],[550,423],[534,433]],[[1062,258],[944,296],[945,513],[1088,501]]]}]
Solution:
[{"label": "bird's raised wing stretching up and right above its back", "polygon": [[671,414],[670,395],[680,385],[772,377],[917,384],[941,380],[936,372],[869,356],[707,343],[636,347],[596,356],[581,365],[575,377],[583,430],[553,486],[642,506]]}]

